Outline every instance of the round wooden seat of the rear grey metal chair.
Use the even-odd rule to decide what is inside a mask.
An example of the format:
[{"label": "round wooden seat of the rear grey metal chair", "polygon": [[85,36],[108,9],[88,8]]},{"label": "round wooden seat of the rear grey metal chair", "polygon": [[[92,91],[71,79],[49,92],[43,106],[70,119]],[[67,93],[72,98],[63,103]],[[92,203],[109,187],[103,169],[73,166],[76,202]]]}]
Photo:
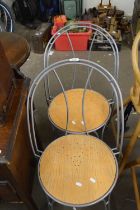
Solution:
[{"label": "round wooden seat of the rear grey metal chair", "polygon": [[[78,72],[79,66],[71,63],[71,66],[73,65],[77,68]],[[71,69],[69,70],[72,72]],[[88,84],[90,81],[91,79],[86,76],[85,83]],[[85,91],[84,85],[83,88],[73,88],[70,85],[70,88],[65,89],[64,84],[62,84],[63,82],[65,81],[60,81],[63,87],[58,94],[54,90],[55,97],[53,97],[49,104],[48,116],[52,125],[58,131],[65,132],[67,130],[69,133],[95,133],[97,130],[100,130],[103,136],[104,129],[111,115],[111,103],[114,96],[110,95],[107,99],[102,93],[95,91],[94,87],[87,87]],[[67,83],[71,83],[71,79],[69,81],[69,78],[67,78]]]}]

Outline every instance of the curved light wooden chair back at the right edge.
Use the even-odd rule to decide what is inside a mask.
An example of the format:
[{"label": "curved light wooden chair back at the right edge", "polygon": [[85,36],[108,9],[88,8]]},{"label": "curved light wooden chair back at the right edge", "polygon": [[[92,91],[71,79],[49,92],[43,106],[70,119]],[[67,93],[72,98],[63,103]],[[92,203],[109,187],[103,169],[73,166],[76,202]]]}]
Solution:
[{"label": "curved light wooden chair back at the right edge", "polygon": [[138,51],[140,43],[140,32],[136,35],[132,46],[132,65],[135,83],[133,91],[130,93],[135,109],[140,113],[140,69],[138,62]]}]

